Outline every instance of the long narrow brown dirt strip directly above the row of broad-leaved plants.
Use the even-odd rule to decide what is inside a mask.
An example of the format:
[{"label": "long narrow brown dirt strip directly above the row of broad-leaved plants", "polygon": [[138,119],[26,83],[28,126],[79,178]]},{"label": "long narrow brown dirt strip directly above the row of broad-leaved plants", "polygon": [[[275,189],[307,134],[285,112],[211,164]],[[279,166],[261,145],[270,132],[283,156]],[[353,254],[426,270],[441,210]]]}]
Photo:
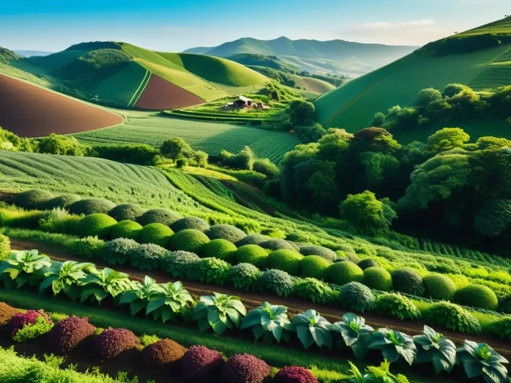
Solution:
[{"label": "long narrow brown dirt strip directly above the row of broad-leaved plants", "polygon": [[[126,273],[130,276],[130,279],[142,281],[143,278],[148,275],[151,278],[155,279],[158,283],[166,283],[166,282],[175,282],[176,280],[181,280],[183,282],[184,287],[194,295],[211,295],[213,292],[220,294],[229,294],[229,295],[237,295],[241,298],[242,302],[247,306],[247,310],[259,307],[264,301],[270,302],[271,304],[284,305],[288,307],[288,312],[290,314],[298,314],[304,312],[308,309],[315,309],[319,312],[324,318],[326,318],[331,323],[338,322],[341,320],[341,317],[351,312],[350,310],[346,310],[342,307],[338,307],[336,304],[324,305],[320,303],[312,303],[311,301],[295,298],[295,297],[279,297],[275,294],[268,294],[267,292],[259,294],[252,292],[244,292],[241,290],[236,290],[231,286],[216,286],[212,284],[206,284],[196,281],[190,281],[186,279],[178,279],[174,278],[171,275],[161,272],[161,271],[140,271],[134,270],[129,266],[109,266],[105,262],[100,260],[92,260],[88,258],[81,258],[75,256],[73,254],[69,254],[66,249],[61,247],[53,247],[47,244],[39,244],[39,243],[29,243],[29,242],[20,242],[20,241],[11,241],[11,247],[15,250],[31,250],[38,249],[39,253],[46,254],[50,258],[57,261],[65,261],[65,260],[76,260],[79,262],[94,262],[96,266],[100,268],[111,267],[116,271],[120,271]],[[357,313],[365,318],[366,324],[373,326],[374,328],[381,327],[389,327],[394,330],[398,330],[404,332],[410,336],[417,335],[422,333],[424,325],[427,324],[423,321],[399,321],[396,318],[388,317],[385,315],[380,315],[375,312],[370,313]],[[470,335],[463,334],[457,331],[452,331],[449,329],[440,329],[439,326],[432,326],[437,329],[439,332],[442,332],[444,336],[451,339],[457,346],[460,346],[463,343],[463,340],[468,339],[477,343],[487,343],[491,345],[497,352],[501,353],[508,360],[511,360],[511,344],[503,339],[498,337],[490,336],[487,334],[479,334],[479,335]]]}]

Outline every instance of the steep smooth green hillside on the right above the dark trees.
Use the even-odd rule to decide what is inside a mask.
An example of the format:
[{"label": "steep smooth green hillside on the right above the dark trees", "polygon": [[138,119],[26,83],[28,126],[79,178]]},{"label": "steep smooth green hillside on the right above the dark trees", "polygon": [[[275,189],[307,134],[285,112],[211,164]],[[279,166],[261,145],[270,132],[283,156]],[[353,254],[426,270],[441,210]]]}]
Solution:
[{"label": "steep smooth green hillside on the right above the dark trees", "polygon": [[[438,47],[450,40],[453,52],[458,52],[471,46],[463,36],[485,36],[490,28],[511,33],[511,18],[492,25],[428,45]],[[394,105],[410,105],[417,92],[425,88],[443,89],[450,83],[469,85],[475,90],[511,85],[511,41],[493,44],[490,40],[489,47],[466,53],[439,55],[440,51],[431,54],[432,51],[427,51],[428,55],[424,51],[412,53],[322,95],[315,101],[319,122],[354,132],[367,127],[376,112],[386,112]]]}]

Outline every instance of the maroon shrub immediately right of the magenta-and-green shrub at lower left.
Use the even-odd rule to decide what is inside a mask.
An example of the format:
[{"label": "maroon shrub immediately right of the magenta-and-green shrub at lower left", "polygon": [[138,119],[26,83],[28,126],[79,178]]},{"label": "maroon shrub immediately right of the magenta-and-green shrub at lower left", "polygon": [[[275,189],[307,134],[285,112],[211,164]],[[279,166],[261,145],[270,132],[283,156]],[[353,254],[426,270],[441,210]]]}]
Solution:
[{"label": "maroon shrub immediately right of the magenta-and-green shrub at lower left", "polygon": [[96,327],[87,318],[69,317],[55,324],[48,334],[50,347],[55,351],[67,352],[85,338],[94,334]]}]

